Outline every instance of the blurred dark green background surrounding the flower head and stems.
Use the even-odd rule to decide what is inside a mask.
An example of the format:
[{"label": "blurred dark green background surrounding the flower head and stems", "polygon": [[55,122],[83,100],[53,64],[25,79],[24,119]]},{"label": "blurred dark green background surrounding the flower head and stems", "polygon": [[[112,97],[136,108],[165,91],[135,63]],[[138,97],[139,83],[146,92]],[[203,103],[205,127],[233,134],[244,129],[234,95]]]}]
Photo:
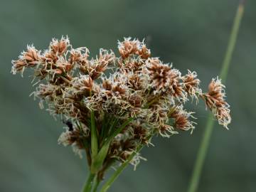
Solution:
[{"label": "blurred dark green background surrounding the flower head and stems", "polygon": [[[0,191],[80,191],[85,159],[58,145],[63,124],[39,110],[28,95],[31,79],[11,75],[11,60],[26,44],[48,48],[68,35],[74,47],[117,53],[124,36],[146,38],[153,56],[186,73],[198,72],[202,86],[218,75],[238,0],[1,0],[0,1]],[[215,125],[198,191],[256,191],[256,1],[248,0],[226,82],[233,122]],[[148,159],[124,171],[110,191],[186,191],[205,129],[203,103],[195,132],[156,137]]]}]

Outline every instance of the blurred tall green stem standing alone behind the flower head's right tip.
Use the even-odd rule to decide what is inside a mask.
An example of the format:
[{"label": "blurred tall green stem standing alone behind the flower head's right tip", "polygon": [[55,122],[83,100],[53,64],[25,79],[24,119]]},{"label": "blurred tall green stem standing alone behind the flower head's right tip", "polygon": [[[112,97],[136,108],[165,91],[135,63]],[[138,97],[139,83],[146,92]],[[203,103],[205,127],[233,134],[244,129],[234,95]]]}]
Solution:
[{"label": "blurred tall green stem standing alone behind the flower head's right tip", "polygon": [[[233,51],[235,48],[235,43],[238,38],[238,31],[240,28],[240,22],[242,20],[242,15],[245,8],[245,0],[241,0],[240,4],[238,5],[238,11],[234,18],[233,28],[230,33],[230,39],[228,41],[228,48],[225,53],[225,58],[223,60],[223,65],[220,70],[220,78],[225,82],[227,75],[228,75],[228,68],[230,67],[230,61],[233,55]],[[203,163],[206,159],[206,153],[208,150],[208,146],[210,143],[210,136],[213,132],[213,116],[209,114],[206,130],[203,134],[203,139],[201,140],[201,145],[199,147],[199,151],[196,157],[196,163],[193,168],[193,173],[191,176],[191,181],[188,186],[188,192],[196,192],[198,188],[199,179],[201,176],[201,172],[203,169]]]}]

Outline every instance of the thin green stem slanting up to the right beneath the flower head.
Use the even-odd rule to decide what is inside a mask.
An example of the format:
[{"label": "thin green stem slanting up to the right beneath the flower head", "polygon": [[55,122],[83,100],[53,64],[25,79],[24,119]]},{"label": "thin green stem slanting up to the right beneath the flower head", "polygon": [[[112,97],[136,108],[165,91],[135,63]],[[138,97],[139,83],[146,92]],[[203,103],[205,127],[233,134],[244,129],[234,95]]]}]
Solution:
[{"label": "thin green stem slanting up to the right beneath the flower head", "polygon": [[124,163],[119,166],[117,168],[117,171],[114,172],[114,174],[110,177],[110,179],[102,186],[102,189],[100,190],[100,192],[106,192],[110,186],[112,185],[112,183],[114,183],[114,181],[117,179],[117,177],[119,176],[119,174],[122,173],[122,171],[124,171],[124,169],[127,167],[127,165],[129,164],[130,161],[132,161],[132,159],[134,158],[134,156],[140,151],[142,150],[144,145],[140,145],[138,146],[137,150],[134,151],[129,158],[124,161]]}]

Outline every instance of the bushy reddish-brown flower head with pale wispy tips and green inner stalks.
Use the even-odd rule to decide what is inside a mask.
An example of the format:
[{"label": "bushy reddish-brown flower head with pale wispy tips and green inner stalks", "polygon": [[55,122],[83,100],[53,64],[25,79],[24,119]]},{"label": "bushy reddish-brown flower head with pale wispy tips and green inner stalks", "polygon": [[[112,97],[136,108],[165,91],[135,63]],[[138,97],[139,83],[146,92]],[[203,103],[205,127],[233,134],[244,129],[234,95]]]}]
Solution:
[{"label": "bushy reddish-brown flower head with pale wispy tips and green inner stalks", "polygon": [[[46,102],[50,114],[68,125],[59,142],[85,150],[90,166],[103,173],[115,161],[125,161],[137,147],[150,144],[154,134],[169,137],[179,130],[194,129],[193,112],[183,105],[201,97],[219,124],[230,123],[224,85],[213,79],[208,92],[198,87],[196,72],[181,73],[159,58],[152,58],[144,42],[124,38],[120,56],[100,49],[89,58],[85,47],[72,48],[68,38],[53,39],[48,50],[28,46],[11,72],[33,68],[35,97]],[[132,159],[137,164],[139,156]]]}]

